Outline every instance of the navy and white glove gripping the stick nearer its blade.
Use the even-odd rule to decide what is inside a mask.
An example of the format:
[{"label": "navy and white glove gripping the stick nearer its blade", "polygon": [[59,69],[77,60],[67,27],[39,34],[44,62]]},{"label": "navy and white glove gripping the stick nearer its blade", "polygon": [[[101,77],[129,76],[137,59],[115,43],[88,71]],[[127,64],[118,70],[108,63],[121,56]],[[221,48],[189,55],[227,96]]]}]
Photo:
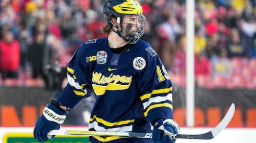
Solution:
[{"label": "navy and white glove gripping the stick nearer its blade", "polygon": [[158,120],[154,124],[152,140],[154,143],[174,143],[176,139],[172,139],[169,135],[178,134],[180,126],[172,119]]}]

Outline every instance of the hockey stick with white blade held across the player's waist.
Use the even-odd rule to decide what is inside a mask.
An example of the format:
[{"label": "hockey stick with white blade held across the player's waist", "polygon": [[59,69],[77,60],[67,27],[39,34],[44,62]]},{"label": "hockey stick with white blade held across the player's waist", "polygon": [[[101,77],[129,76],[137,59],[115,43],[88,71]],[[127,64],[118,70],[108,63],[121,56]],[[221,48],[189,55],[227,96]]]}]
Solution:
[{"label": "hockey stick with white blade held across the player's waist", "polygon": [[[184,138],[184,139],[212,139],[214,138],[222,129],[224,129],[233,117],[235,112],[235,104],[232,103],[229,107],[228,112],[220,123],[204,134],[198,135],[186,135],[186,134],[171,134],[171,138]],[[48,133],[50,138],[52,135],[80,135],[80,136],[119,136],[119,137],[138,137],[138,138],[152,138],[152,132],[149,133],[136,133],[136,132],[101,132],[101,131],[71,131],[71,130],[59,130],[54,129]]]}]

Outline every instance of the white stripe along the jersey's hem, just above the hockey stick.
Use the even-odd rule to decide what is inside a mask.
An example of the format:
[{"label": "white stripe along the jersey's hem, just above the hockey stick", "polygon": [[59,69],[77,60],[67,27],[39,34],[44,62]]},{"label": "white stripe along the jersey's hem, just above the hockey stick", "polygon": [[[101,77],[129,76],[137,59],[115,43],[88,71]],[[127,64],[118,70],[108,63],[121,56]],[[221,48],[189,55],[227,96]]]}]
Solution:
[{"label": "white stripe along the jersey's hem, just above the hockey stick", "polygon": [[104,132],[131,132],[132,131],[132,125],[106,129],[102,126],[99,126],[96,121],[90,123],[89,128],[94,128],[96,131],[104,131]]}]

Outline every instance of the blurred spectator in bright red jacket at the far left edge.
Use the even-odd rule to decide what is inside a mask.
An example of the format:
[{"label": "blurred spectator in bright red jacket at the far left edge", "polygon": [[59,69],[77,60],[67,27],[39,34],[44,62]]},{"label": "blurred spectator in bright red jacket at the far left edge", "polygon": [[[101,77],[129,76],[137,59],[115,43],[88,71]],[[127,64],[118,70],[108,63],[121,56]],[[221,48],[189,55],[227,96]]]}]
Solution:
[{"label": "blurred spectator in bright red jacket at the far left edge", "polygon": [[14,35],[10,31],[5,31],[3,37],[4,39],[0,41],[0,71],[2,72],[2,79],[18,79],[20,62],[19,42],[14,39]]}]

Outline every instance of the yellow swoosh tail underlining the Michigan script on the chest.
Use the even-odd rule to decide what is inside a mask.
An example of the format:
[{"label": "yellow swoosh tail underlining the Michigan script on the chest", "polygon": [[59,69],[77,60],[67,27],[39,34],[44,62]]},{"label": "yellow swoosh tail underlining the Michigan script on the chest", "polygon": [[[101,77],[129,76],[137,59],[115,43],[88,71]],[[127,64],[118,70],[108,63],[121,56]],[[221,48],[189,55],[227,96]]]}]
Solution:
[{"label": "yellow swoosh tail underlining the Michigan script on the chest", "polygon": [[125,90],[130,87],[130,84],[123,85],[123,84],[114,84],[114,83],[109,83],[106,86],[103,85],[97,85],[93,84],[93,90],[96,95],[103,95],[105,94],[106,90]]}]

